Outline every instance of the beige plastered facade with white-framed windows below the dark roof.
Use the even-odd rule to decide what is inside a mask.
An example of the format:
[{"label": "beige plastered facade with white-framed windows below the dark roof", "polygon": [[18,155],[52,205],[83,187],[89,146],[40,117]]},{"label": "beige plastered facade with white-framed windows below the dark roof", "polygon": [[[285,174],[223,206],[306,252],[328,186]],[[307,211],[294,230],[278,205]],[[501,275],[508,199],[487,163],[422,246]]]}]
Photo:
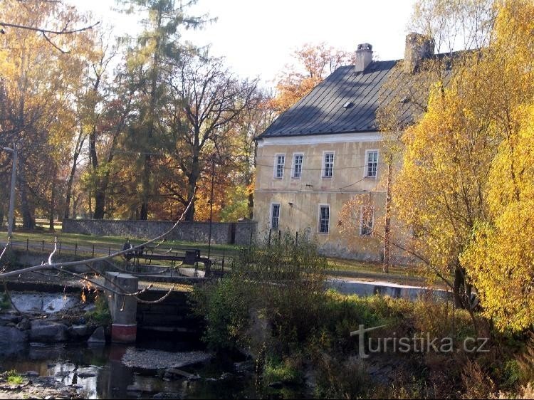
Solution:
[{"label": "beige plastered facade with white-framed windows below the dark roof", "polygon": [[[308,231],[329,256],[382,260],[374,229],[384,219],[385,167],[379,132],[273,137],[258,142],[254,219],[258,234]],[[365,198],[344,226],[340,211]],[[346,223],[345,223],[346,225]]]}]

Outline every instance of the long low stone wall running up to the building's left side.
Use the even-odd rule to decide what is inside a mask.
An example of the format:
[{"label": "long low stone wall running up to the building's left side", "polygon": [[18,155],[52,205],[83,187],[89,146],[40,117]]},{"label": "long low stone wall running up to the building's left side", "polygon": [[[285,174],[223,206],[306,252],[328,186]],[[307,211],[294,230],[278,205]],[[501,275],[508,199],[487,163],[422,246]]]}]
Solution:
[{"label": "long low stone wall running up to the building's left side", "polygon": [[[63,232],[124,238],[155,238],[168,231],[172,221],[116,221],[108,219],[63,219]],[[250,243],[256,236],[256,222],[214,222],[211,224],[211,243]],[[207,243],[209,222],[182,222],[167,239]]]}]

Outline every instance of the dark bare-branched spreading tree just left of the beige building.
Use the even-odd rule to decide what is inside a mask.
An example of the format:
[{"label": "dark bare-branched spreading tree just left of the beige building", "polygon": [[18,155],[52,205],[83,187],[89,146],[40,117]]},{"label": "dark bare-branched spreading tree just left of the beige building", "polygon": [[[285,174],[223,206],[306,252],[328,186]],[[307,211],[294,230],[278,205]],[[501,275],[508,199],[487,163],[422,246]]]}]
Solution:
[{"label": "dark bare-branched spreading tree just left of the beige building", "polygon": [[[211,154],[217,154],[216,168],[220,171],[232,150],[229,135],[234,123],[256,105],[256,84],[257,80],[236,78],[219,58],[191,54],[175,65],[169,77],[169,132],[176,142],[164,167],[171,177],[179,179],[163,184],[184,206],[197,190]],[[186,221],[193,221],[194,215],[195,199]]]}]

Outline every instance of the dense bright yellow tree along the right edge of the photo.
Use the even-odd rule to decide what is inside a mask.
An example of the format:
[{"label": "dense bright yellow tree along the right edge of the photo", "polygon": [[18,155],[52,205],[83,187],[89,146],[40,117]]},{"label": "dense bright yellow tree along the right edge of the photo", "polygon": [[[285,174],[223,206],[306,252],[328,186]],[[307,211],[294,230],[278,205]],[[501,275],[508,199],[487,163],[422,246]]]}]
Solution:
[{"label": "dense bright yellow tree along the right edge of the photo", "polygon": [[[534,4],[508,1],[482,64],[486,117],[499,132],[486,190],[488,216],[461,255],[486,317],[501,330],[534,323]],[[486,94],[486,90],[484,90]]]}]

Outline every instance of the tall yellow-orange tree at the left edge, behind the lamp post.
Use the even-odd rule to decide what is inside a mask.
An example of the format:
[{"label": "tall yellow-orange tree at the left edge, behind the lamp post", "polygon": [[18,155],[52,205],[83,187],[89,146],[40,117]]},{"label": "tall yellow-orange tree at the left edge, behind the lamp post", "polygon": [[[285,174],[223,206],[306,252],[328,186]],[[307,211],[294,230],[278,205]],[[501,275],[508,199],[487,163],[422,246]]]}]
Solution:
[{"label": "tall yellow-orange tree at the left edge, behind the lamp post", "polygon": [[[82,17],[51,2],[9,1],[0,18],[19,26],[65,26]],[[15,29],[2,37],[0,75],[4,102],[1,131],[6,142],[19,144],[19,194],[23,226],[33,228],[36,208],[56,211],[60,196],[58,173],[63,169],[61,150],[70,144],[75,125],[73,94],[79,88],[83,49],[90,48],[86,32],[61,35],[56,51],[43,36],[30,29]],[[46,68],[43,68],[46,65]],[[61,197],[60,197],[61,198]]]}]

